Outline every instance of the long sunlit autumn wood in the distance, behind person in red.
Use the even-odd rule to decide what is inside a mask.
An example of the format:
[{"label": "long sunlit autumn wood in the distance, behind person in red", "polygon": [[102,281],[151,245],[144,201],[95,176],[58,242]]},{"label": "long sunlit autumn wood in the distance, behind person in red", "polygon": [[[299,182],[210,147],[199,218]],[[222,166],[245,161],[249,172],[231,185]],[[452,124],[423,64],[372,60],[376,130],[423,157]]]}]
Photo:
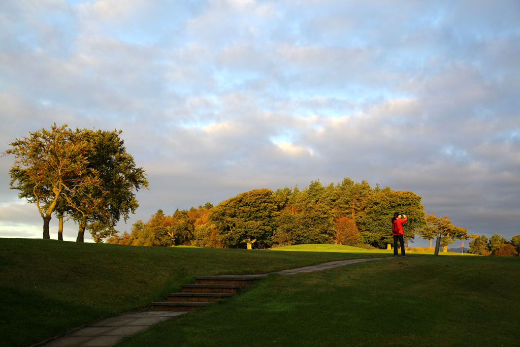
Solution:
[{"label": "long sunlit autumn wood in the distance, behind person in red", "polygon": [[[149,221],[137,221],[131,233],[107,240],[135,246],[192,245],[198,247],[269,248],[302,243],[336,243],[367,248],[388,248],[393,242],[391,219],[405,213],[406,242],[416,234],[433,238],[440,231],[447,245],[467,238],[466,229],[425,216],[421,197],[411,191],[371,187],[349,177],[340,184],[323,186],[313,181],[305,189],[284,187],[253,189],[216,206],[162,210]],[[431,215],[435,217],[434,215]],[[428,232],[426,232],[428,230]],[[422,233],[422,234],[420,234]]]}]

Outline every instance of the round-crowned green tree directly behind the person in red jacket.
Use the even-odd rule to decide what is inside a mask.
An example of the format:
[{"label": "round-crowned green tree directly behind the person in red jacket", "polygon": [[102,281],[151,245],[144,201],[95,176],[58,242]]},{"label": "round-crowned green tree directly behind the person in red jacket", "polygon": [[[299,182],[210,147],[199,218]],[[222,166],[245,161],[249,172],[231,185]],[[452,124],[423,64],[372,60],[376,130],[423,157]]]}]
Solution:
[{"label": "round-crowned green tree directly behind the person in red jacket", "polygon": [[413,238],[415,230],[424,227],[424,208],[421,197],[411,191],[383,189],[369,195],[363,202],[365,209],[356,219],[360,237],[369,245],[387,248],[393,242],[392,217],[394,212],[406,214],[403,224],[406,240]]}]

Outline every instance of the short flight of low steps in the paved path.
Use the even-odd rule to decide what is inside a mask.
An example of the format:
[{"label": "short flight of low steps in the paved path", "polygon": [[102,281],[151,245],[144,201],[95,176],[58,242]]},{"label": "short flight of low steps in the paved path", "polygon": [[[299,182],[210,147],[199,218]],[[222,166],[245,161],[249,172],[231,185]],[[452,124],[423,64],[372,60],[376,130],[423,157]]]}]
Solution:
[{"label": "short flight of low steps in the paved path", "polygon": [[192,311],[231,297],[265,275],[198,276],[182,292],[166,294],[166,301],[152,302],[153,311]]}]

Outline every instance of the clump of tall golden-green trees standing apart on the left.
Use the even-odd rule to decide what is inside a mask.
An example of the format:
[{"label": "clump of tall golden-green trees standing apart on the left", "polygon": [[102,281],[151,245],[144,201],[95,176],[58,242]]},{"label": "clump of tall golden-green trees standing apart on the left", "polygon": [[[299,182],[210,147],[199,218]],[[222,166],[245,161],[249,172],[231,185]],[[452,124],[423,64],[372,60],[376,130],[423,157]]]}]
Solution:
[{"label": "clump of tall golden-green trees standing apart on the left", "polygon": [[126,152],[121,131],[71,130],[67,124],[30,132],[16,139],[4,155],[13,155],[10,188],[18,197],[34,203],[43,219],[43,238],[50,238],[53,214],[78,225],[76,241],[85,229],[99,241],[117,233],[116,223],[135,213],[134,191],[147,188],[145,170]]}]

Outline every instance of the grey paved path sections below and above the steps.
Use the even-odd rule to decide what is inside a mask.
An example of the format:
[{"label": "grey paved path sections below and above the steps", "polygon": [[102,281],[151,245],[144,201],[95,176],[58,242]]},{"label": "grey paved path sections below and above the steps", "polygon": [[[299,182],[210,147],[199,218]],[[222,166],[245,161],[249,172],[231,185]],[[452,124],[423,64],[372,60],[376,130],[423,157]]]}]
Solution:
[{"label": "grey paved path sections below and above the steps", "polygon": [[[288,270],[277,271],[277,274],[299,274],[320,271],[370,260],[385,258],[350,259],[338,260],[323,264],[298,267]],[[264,274],[267,276],[268,274]],[[124,316],[112,317],[96,322],[75,330],[67,336],[52,340],[46,347],[108,347],[120,342],[124,337],[135,335],[138,332],[148,330],[152,325],[164,322],[172,317],[180,316],[188,312],[176,311],[149,311],[141,313],[126,314]]]}]

